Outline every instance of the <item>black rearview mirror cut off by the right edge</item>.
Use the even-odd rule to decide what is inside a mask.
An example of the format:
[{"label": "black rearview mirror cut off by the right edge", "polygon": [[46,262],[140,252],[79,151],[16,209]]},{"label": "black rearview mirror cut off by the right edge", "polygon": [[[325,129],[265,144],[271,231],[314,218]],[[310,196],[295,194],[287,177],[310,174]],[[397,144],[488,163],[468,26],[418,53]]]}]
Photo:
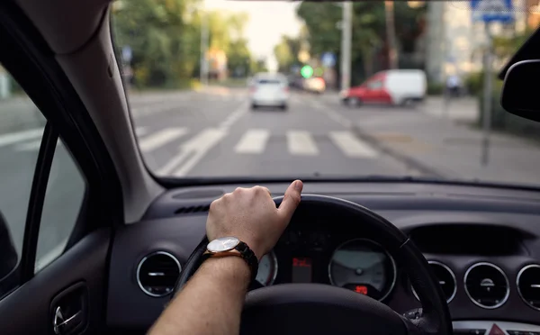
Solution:
[{"label": "black rearview mirror cut off by the right edge", "polygon": [[502,108],[509,113],[540,122],[540,90],[535,85],[539,79],[540,60],[522,60],[512,65],[504,77],[500,97]]}]

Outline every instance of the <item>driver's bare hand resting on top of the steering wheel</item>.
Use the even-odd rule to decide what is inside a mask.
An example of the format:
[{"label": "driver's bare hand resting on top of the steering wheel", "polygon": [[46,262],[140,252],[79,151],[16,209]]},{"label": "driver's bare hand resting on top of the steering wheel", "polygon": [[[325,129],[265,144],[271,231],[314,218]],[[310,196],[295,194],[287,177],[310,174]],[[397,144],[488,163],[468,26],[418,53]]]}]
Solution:
[{"label": "driver's bare hand resting on top of the steering wheel", "polygon": [[300,204],[302,181],[295,180],[285,191],[284,201],[275,208],[270,190],[266,187],[238,187],[210,205],[206,220],[206,236],[215,240],[234,236],[245,242],[262,258],[274,248]]}]

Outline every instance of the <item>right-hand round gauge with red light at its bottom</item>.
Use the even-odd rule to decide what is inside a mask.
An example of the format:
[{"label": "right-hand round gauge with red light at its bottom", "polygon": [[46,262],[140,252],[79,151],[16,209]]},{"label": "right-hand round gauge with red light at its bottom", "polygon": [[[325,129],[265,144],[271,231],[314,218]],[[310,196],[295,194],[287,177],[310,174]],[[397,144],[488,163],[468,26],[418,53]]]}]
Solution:
[{"label": "right-hand round gauge with red light at its bottom", "polygon": [[348,240],[334,251],[329,277],[332,285],[383,300],[395,285],[396,266],[390,254],[373,240]]}]

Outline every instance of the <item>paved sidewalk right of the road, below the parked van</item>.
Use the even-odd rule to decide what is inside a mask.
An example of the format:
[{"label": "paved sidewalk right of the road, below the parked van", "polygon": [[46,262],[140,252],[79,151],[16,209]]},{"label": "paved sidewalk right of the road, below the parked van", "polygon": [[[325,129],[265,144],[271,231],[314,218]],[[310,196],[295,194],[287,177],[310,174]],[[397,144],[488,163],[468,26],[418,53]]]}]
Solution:
[{"label": "paved sidewalk right of the road, below the parked van", "polygon": [[482,131],[459,123],[478,113],[473,100],[450,104],[448,118],[437,103],[442,101],[429,99],[416,111],[370,114],[354,120],[354,128],[359,137],[427,174],[540,185],[540,145],[492,132],[489,164],[484,167]]}]

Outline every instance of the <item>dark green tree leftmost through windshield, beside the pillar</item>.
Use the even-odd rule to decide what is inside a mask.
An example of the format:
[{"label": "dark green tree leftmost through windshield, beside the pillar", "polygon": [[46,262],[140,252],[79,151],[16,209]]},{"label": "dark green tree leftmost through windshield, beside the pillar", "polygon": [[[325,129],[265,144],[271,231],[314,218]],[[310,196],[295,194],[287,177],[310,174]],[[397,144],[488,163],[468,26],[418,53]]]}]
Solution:
[{"label": "dark green tree leftmost through windshield, beside the pillar", "polygon": [[[122,1],[113,15],[121,46],[130,46],[138,86],[178,86],[192,75],[199,27],[185,20],[199,0]],[[141,24],[144,23],[144,24]]]}]

